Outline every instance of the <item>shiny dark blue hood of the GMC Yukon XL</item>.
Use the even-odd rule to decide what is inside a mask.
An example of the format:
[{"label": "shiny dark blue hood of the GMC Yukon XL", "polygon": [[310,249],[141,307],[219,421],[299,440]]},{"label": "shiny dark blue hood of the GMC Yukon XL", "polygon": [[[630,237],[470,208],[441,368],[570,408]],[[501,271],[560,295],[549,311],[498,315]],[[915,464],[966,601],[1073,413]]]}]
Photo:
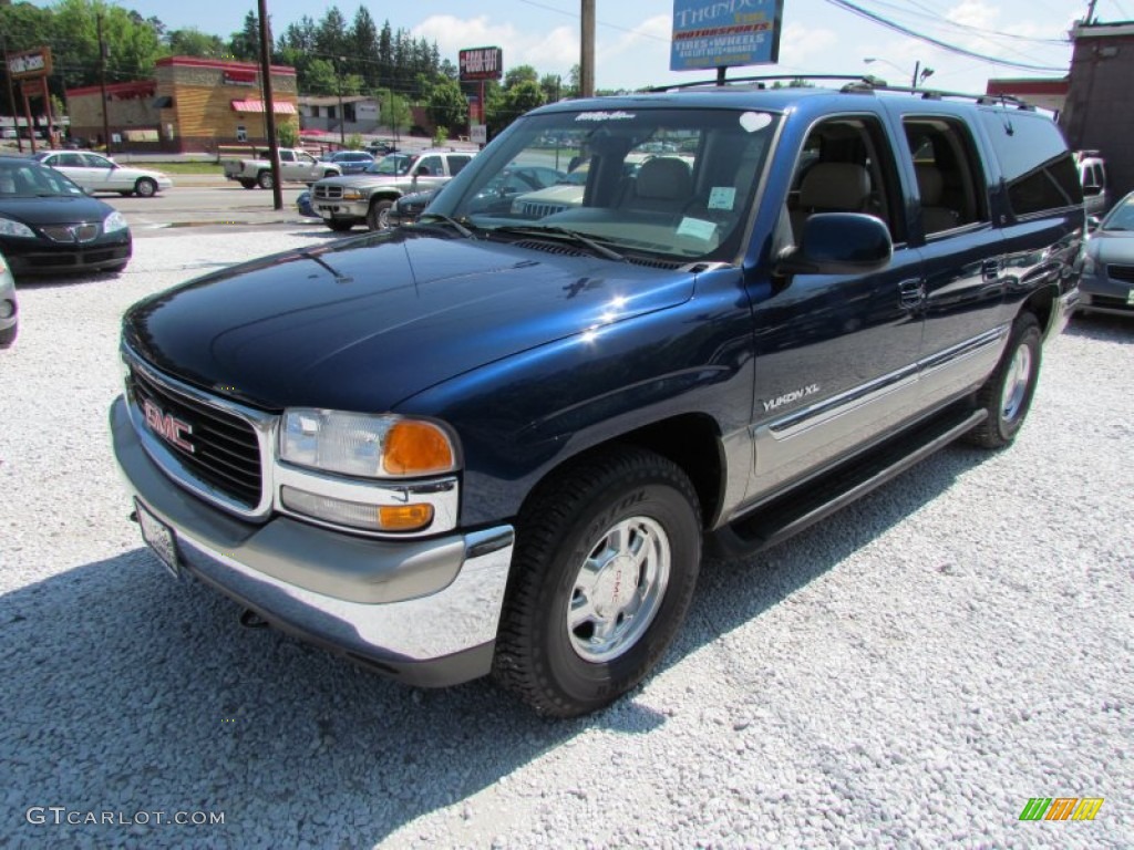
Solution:
[{"label": "shiny dark blue hood of the GMC Yukon XL", "polygon": [[392,410],[479,366],[680,304],[694,274],[396,231],[277,254],[139,301],[122,339],[255,407]]}]

